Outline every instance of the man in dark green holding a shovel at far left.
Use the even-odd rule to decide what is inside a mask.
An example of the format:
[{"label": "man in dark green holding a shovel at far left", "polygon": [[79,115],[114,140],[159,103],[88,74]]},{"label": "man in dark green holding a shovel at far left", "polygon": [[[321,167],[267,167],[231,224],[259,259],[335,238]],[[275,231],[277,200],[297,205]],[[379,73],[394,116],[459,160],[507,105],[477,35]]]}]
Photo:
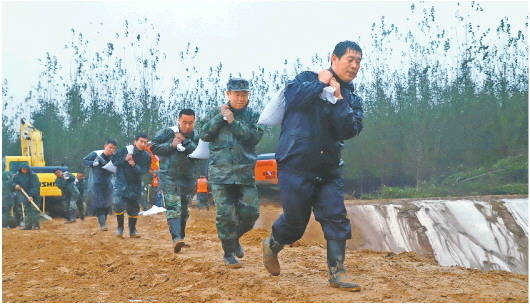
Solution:
[{"label": "man in dark green holding a shovel at far left", "polygon": [[[30,201],[38,201],[40,194],[40,181],[36,174],[31,172],[27,164],[22,165],[18,173],[13,178],[13,189],[18,191],[16,193],[17,200],[22,204],[24,212],[24,227],[23,230],[39,230],[39,211]],[[26,192],[28,197],[22,193]]]}]

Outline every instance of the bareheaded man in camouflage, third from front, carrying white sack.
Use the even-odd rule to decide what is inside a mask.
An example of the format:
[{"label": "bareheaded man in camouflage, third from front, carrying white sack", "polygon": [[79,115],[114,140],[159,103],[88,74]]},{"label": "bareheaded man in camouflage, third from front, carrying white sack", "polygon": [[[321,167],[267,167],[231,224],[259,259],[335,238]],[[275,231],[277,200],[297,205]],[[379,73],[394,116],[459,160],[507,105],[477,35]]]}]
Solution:
[{"label": "bareheaded man in camouflage, third from front, carrying white sack", "polygon": [[160,157],[160,188],[166,204],[166,218],[173,240],[173,251],[186,245],[188,206],[195,194],[195,159],[188,158],[197,147],[199,136],[194,132],[195,112],[183,109],[177,126],[160,130],[152,140],[151,149]]}]

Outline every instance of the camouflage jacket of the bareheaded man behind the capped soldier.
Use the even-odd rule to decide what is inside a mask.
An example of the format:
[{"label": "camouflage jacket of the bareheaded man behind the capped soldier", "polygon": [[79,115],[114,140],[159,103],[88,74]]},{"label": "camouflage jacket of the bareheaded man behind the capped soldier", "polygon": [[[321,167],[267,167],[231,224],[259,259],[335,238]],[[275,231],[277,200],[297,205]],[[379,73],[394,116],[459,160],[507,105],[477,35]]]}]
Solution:
[{"label": "camouflage jacket of the bareheaded man behind the capped soldier", "polygon": [[186,150],[178,151],[171,147],[171,142],[175,137],[175,133],[171,128],[160,130],[155,138],[151,140],[153,143],[151,150],[160,158],[160,179],[171,179],[177,183],[193,182],[195,180],[194,165],[196,160],[188,158],[197,147],[199,142],[199,135],[196,132],[183,134],[186,139],[182,145]]}]

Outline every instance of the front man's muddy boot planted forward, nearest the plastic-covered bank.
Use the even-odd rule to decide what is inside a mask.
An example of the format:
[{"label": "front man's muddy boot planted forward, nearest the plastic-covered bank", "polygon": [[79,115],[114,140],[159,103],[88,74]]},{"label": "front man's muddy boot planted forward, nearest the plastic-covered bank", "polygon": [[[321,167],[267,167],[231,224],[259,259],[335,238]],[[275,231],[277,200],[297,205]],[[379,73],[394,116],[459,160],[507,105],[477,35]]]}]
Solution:
[{"label": "front man's muddy boot planted forward, nearest the plastic-covered bank", "polygon": [[331,287],[347,291],[360,291],[361,287],[349,280],[344,269],[345,240],[328,240],[329,284]]}]

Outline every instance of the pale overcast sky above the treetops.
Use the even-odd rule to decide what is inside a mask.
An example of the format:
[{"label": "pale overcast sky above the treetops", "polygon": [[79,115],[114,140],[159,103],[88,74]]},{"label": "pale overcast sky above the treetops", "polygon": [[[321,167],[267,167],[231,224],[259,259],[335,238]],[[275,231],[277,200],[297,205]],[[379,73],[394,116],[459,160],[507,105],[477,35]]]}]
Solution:
[{"label": "pale overcast sky above the treetops", "polygon": [[[71,39],[71,28],[86,34],[95,49],[101,49],[111,35],[122,31],[125,19],[144,17],[160,32],[160,48],[168,55],[169,65],[161,69],[162,77],[174,76],[175,67],[171,65],[177,64],[174,58],[187,42],[200,48],[200,60],[205,67],[223,62],[225,71],[243,74],[258,66],[277,69],[284,59],[309,60],[315,53],[325,56],[342,40],[368,42],[370,26],[381,16],[385,16],[388,24],[406,29],[404,16],[408,15],[410,4],[401,1],[3,1],[2,79],[8,79],[9,94],[15,101],[21,101],[37,83],[42,71],[37,59],[46,51],[68,65],[64,45]],[[528,4],[522,1],[480,4],[484,12],[473,18],[492,28],[503,16],[522,26],[528,14]],[[448,27],[454,24],[456,2],[426,2],[426,6],[430,5],[435,5]],[[365,60],[376,59],[368,53]]]}]

